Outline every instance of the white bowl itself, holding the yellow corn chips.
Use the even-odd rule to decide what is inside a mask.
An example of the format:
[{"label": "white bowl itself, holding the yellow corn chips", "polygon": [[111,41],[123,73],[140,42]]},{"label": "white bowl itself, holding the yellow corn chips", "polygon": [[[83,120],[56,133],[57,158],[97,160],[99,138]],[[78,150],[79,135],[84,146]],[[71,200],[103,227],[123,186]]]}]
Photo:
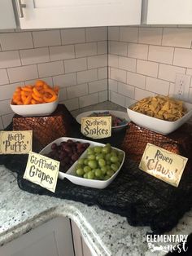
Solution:
[{"label": "white bowl itself, holding the yellow corn chips", "polygon": [[168,135],[172,131],[177,130],[177,128],[182,126],[192,116],[192,104],[189,103],[185,103],[187,113],[177,121],[165,121],[155,117],[146,116],[130,109],[133,107],[133,105],[134,104],[127,108],[130,120],[136,123],[138,126],[142,126],[148,130],[153,130],[161,135]]}]

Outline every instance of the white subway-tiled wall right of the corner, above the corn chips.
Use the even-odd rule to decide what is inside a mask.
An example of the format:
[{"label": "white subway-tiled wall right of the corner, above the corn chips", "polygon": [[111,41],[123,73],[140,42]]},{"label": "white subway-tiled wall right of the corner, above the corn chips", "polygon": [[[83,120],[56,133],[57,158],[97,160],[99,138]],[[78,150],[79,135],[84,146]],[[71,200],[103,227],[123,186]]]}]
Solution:
[{"label": "white subway-tiled wall right of the corner, above the corn chips", "polygon": [[176,73],[192,75],[192,28],[111,27],[108,40],[110,99],[116,104],[172,95]]}]

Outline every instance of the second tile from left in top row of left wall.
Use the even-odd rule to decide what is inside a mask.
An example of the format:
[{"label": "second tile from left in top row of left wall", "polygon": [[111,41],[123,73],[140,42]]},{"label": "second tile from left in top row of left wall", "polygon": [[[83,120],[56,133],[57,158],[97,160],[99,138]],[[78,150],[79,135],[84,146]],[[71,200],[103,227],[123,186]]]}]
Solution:
[{"label": "second tile from left in top row of left wall", "polygon": [[35,47],[59,46],[61,38],[59,30],[34,31],[33,42]]}]

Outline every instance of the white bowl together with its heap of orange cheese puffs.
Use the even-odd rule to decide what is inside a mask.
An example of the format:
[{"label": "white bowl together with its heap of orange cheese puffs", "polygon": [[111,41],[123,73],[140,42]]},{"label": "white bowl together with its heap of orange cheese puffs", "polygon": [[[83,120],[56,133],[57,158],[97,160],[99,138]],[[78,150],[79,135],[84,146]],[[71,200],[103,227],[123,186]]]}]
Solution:
[{"label": "white bowl together with its heap of orange cheese puffs", "polygon": [[51,87],[42,80],[33,85],[18,86],[11,99],[11,109],[23,117],[47,116],[59,102],[59,87]]}]

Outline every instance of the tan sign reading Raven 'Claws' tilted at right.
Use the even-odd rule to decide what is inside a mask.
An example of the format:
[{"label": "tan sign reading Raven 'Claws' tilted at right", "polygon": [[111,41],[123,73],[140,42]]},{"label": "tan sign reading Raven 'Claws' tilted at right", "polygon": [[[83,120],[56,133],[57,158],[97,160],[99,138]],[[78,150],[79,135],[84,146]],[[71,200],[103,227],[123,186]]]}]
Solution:
[{"label": "tan sign reading Raven 'Claws' tilted at right", "polygon": [[187,160],[188,158],[147,143],[139,169],[178,187]]}]

